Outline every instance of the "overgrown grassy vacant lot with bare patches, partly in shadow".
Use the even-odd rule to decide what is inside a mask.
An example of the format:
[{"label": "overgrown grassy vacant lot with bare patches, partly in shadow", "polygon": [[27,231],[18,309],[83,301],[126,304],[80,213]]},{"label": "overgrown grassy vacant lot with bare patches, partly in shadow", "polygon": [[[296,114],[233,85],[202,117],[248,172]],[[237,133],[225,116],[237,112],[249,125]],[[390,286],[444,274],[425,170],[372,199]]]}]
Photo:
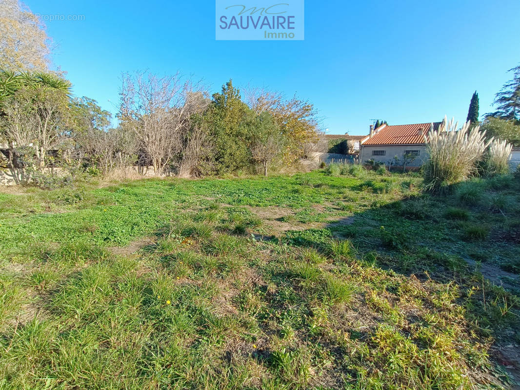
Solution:
[{"label": "overgrown grassy vacant lot with bare patches, partly in shadow", "polygon": [[353,173],[4,190],[0,388],[513,386],[519,181]]}]

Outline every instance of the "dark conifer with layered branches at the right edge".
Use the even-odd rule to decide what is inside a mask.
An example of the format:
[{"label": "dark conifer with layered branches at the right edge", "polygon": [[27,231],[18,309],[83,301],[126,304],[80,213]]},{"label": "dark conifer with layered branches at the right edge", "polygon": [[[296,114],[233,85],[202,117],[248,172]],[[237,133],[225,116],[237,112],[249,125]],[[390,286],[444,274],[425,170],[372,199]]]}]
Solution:
[{"label": "dark conifer with layered branches at the right edge", "polygon": [[495,116],[520,122],[520,65],[508,72],[513,72],[513,79],[505,83],[495,95],[493,105],[497,106],[497,111],[486,114],[486,117]]}]

